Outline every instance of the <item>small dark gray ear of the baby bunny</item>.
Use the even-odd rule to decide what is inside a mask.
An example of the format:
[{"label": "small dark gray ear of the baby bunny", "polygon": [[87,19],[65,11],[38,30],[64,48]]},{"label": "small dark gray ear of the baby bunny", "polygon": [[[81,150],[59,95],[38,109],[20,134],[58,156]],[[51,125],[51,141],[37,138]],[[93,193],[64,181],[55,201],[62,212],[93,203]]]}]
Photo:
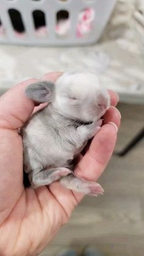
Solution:
[{"label": "small dark gray ear of the baby bunny", "polygon": [[26,88],[27,97],[39,103],[51,102],[54,98],[55,84],[51,81],[39,81]]}]

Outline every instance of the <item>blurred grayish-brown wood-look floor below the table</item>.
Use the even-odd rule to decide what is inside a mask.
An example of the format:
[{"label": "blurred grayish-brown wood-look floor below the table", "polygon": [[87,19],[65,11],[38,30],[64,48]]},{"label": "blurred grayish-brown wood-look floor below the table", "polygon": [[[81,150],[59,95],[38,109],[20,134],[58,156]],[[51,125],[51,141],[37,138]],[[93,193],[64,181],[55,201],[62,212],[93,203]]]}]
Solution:
[{"label": "blurred grayish-brown wood-look floor below the table", "polygon": [[[144,105],[118,108],[122,121],[116,150],[121,150],[142,128]],[[113,155],[99,183],[104,196],[85,197],[41,256],[54,256],[63,247],[81,252],[87,244],[104,256],[144,255],[144,140],[124,158]]]}]

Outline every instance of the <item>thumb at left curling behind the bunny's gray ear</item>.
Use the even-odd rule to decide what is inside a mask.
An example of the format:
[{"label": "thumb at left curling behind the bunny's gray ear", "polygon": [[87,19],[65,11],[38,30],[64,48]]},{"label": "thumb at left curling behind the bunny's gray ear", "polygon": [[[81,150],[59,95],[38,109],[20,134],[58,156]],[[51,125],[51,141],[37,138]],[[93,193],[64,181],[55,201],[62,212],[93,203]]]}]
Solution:
[{"label": "thumb at left curling behind the bunny's gray ear", "polygon": [[[59,73],[49,73],[45,79],[56,81]],[[37,79],[29,79],[18,86],[8,90],[0,98],[0,126],[8,129],[18,129],[24,125],[34,110],[35,103],[25,95],[26,87],[37,82]]]}]

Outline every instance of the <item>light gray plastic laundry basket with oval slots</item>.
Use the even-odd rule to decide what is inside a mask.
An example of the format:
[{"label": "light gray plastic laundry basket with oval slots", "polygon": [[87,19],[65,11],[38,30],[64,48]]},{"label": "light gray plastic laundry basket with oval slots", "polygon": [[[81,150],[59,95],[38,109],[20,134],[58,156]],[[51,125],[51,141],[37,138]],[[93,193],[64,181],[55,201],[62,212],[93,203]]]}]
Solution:
[{"label": "light gray plastic laundry basket with oval slots", "polygon": [[[0,0],[0,43],[39,46],[88,45],[101,36],[117,0]],[[78,38],[76,27],[82,10],[95,10],[92,30]],[[57,13],[66,13],[70,29],[56,33]],[[66,15],[67,16],[67,15]],[[40,27],[45,35],[38,34]]]}]

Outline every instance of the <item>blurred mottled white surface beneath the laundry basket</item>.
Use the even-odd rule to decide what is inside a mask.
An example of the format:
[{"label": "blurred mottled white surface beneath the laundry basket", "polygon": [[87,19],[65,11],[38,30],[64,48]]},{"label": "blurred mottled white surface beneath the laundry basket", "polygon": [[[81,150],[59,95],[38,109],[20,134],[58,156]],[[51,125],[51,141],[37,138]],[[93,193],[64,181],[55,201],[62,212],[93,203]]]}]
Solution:
[{"label": "blurred mottled white surface beneath the laundry basket", "polygon": [[48,71],[84,68],[96,71],[101,82],[121,100],[144,103],[144,1],[118,0],[96,45],[36,48],[0,45],[0,89],[40,78]]}]

